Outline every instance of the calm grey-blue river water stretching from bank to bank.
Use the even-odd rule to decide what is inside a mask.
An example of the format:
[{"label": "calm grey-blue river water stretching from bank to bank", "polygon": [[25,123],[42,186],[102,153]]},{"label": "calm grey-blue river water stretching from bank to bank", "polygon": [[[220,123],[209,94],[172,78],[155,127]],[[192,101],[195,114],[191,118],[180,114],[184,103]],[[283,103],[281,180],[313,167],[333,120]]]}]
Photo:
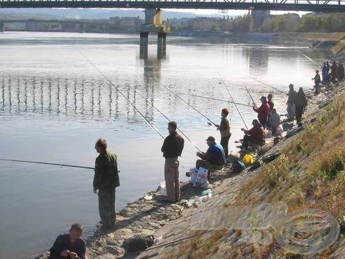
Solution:
[{"label": "calm grey-blue river water stretching from bank to bank", "polygon": [[[119,158],[119,211],[164,180],[163,139],[140,113],[166,136],[168,121],[159,109],[205,151],[206,137],[219,142],[219,132],[190,106],[216,123],[228,107],[235,151],[244,123],[220,77],[236,102],[251,104],[247,86],[257,103],[273,93],[278,113],[286,113],[288,84],[311,88],[317,68],[297,50],[319,63],[328,54],[168,37],[166,57],[157,58],[155,40],[150,38],[148,56],[141,59],[137,35],[1,34],[0,158],[92,167],[95,142],[105,137]],[[256,114],[248,106],[238,108],[249,127]],[[194,166],[196,152],[186,140],[181,180],[187,180],[184,172]],[[0,161],[0,258],[32,258],[72,222],[90,235],[99,221],[92,179],[90,169]]]}]

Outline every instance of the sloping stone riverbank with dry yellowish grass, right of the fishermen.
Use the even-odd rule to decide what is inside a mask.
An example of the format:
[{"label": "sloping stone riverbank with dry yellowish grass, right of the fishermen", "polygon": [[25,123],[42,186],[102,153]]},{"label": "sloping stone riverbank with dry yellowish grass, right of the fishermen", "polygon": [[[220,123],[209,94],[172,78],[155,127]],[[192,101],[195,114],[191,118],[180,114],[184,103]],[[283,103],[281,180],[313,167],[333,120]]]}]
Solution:
[{"label": "sloping stone riverbank with dry yellowish grass, right of the fishermen", "polygon": [[[149,193],[152,200],[143,197],[128,204],[117,214],[115,231],[97,231],[88,239],[88,258],[292,258],[293,250],[285,250],[277,242],[277,224],[257,221],[259,225],[250,227],[255,224],[250,220],[250,226],[242,224],[242,229],[221,227],[232,218],[229,213],[235,206],[266,204],[270,214],[276,212],[270,206],[279,202],[286,204],[288,213],[298,209],[331,213],[340,225],[340,233],[331,247],[325,244],[317,250],[317,258],[341,258],[345,247],[344,107],[344,84],[309,99],[304,130],[285,137],[265,154],[280,153],[279,157],[239,174],[231,173],[230,166],[226,166],[211,178],[213,196],[199,207],[189,207],[187,200],[200,196],[203,190],[188,183],[181,186],[178,204],[164,202],[164,196],[156,191]],[[208,217],[198,218],[201,212],[208,213]],[[207,222],[212,216],[214,220]],[[215,225],[218,218],[220,227]],[[130,253],[126,240],[140,233],[163,239],[139,255]],[[299,246],[308,244],[299,241]],[[47,258],[47,254],[37,258]]]}]

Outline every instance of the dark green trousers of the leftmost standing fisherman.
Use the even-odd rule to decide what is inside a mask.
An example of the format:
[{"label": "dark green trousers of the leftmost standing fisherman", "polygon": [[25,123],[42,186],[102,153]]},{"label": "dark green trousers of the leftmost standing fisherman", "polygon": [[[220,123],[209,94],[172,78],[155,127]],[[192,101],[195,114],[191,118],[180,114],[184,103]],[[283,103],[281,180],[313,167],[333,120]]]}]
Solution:
[{"label": "dark green trousers of the leftmost standing fisherman", "polygon": [[99,189],[98,208],[103,227],[115,227],[115,189]]}]

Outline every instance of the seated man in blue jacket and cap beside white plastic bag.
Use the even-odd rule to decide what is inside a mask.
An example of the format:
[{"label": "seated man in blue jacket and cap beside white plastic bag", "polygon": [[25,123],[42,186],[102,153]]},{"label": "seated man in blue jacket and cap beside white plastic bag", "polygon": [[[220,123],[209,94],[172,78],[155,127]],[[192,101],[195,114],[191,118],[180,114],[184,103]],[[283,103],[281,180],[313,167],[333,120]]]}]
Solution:
[{"label": "seated man in blue jacket and cap beside white plastic bag", "polygon": [[220,170],[226,163],[224,148],[215,142],[215,138],[210,136],[207,138],[206,143],[208,150],[206,153],[197,152],[197,156],[201,160],[197,160],[195,167],[199,169],[199,166],[208,169],[208,180],[210,179],[210,171]]}]

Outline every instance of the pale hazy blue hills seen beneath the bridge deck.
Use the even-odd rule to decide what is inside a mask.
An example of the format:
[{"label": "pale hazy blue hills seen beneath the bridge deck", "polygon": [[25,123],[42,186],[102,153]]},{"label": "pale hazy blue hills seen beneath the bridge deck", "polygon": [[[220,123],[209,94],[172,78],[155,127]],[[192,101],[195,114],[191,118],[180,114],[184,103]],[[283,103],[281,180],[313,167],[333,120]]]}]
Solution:
[{"label": "pale hazy blue hills seen beneath the bridge deck", "polygon": [[[197,15],[193,12],[163,12],[164,19],[171,18],[195,18],[195,17],[223,17],[219,15]],[[57,9],[57,8],[17,8],[0,9],[0,17],[28,18],[28,19],[109,19],[109,17],[140,17],[144,19],[144,10],[130,9]]]}]

